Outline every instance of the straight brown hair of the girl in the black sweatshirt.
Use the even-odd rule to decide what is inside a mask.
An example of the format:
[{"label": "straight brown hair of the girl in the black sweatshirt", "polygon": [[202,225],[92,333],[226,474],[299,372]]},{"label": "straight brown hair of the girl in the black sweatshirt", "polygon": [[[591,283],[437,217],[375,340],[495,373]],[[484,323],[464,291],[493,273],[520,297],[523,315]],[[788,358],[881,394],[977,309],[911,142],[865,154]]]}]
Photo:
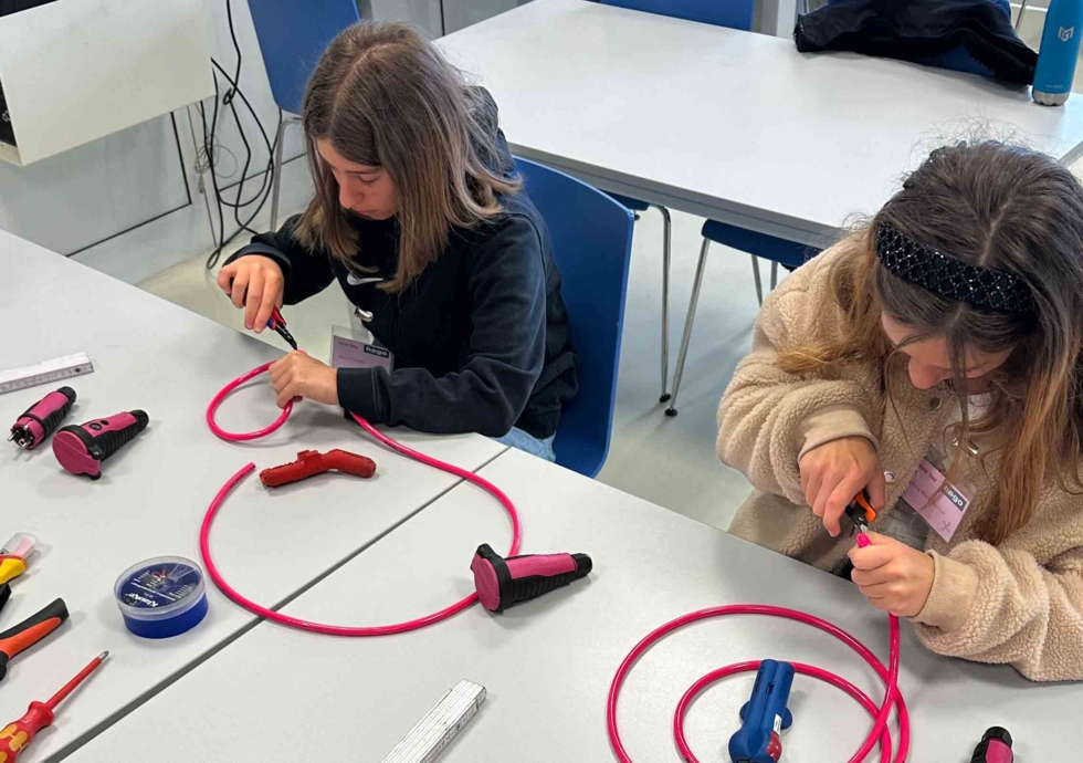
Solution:
[{"label": "straight brown hair of the girl in the black sweatshirt", "polygon": [[[356,233],[338,203],[338,182],[316,151],[327,139],[359,165],[381,167],[398,192],[399,264],[383,289],[402,292],[448,245],[452,228],[503,211],[518,190],[501,174],[487,119],[495,107],[412,28],[362,23],[328,45],[302,108],[316,194],[295,236],[348,261]],[[358,263],[364,266],[364,263]]]}]

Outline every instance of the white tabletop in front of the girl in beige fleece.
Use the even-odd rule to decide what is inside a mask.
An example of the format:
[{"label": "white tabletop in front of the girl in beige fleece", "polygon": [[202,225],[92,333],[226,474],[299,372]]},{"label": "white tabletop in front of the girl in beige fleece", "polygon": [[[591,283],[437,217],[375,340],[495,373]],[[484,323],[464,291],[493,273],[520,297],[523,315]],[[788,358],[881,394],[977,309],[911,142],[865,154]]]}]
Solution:
[{"label": "white tabletop in front of the girl in beige fleece", "polygon": [[[595,569],[543,599],[493,616],[480,606],[425,630],[333,639],[261,624],[209,669],[186,676],[72,757],[77,763],[379,761],[459,679],[488,689],[479,718],[441,763],[612,760],[606,697],[628,650],[662,623],[707,606],[765,603],[803,609],[850,630],[886,660],[886,619],[849,583],[679,514],[509,450],[482,475],[524,520],[525,551],[582,551]],[[341,621],[396,620],[471,589],[474,548],[506,548],[500,508],[461,485],[286,608]],[[912,761],[968,760],[989,725],[1018,739],[1021,761],[1063,760],[1068,708],[1083,687],[1027,683],[1007,667],[933,656],[903,626],[901,686],[914,721]],[[693,626],[632,671],[619,719],[637,761],[676,761],[677,699],[721,665],[774,657],[812,662],[881,689],[859,657],[817,630],[738,618]],[[702,760],[726,760],[751,677],[708,691],[688,717]],[[791,763],[847,760],[870,722],[837,690],[799,677],[786,734]],[[168,723],[162,720],[167,719]],[[154,728],[153,734],[139,733]],[[287,755],[288,756],[288,755]],[[873,760],[873,757],[870,757]],[[879,753],[875,756],[879,760]]]}]

